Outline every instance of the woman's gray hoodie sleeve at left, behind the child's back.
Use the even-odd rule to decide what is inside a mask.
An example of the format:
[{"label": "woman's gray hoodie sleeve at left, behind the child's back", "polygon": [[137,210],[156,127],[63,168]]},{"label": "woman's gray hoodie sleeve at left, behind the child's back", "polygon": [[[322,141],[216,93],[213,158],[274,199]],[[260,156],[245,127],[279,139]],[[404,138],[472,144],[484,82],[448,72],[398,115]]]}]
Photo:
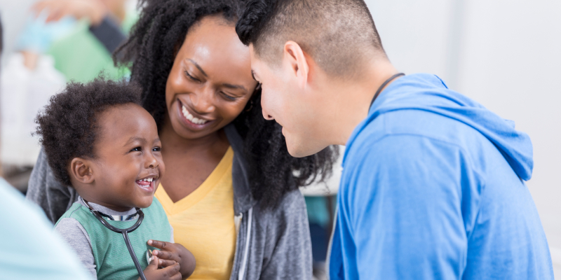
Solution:
[{"label": "woman's gray hoodie sleeve at left, behind the child's back", "polygon": [[53,171],[48,166],[46,155],[41,149],[29,178],[26,198],[39,205],[48,219],[56,223],[60,216],[76,202],[78,195],[74,188],[62,186],[55,179]]}]

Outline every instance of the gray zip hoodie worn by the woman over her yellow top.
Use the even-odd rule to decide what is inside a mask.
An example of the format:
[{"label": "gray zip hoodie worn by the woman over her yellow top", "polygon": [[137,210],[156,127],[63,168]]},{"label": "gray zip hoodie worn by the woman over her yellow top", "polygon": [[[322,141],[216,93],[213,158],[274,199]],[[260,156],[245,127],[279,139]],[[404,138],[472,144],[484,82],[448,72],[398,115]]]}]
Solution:
[{"label": "gray zip hoodie worn by the woman over her yellow top", "polygon": [[[234,125],[224,130],[234,150],[234,214],[241,218],[230,279],[311,279],[311,241],[304,197],[299,190],[292,190],[274,209],[262,209],[250,192],[243,140]],[[55,179],[41,151],[29,179],[27,200],[39,204],[55,223],[77,198],[74,188],[62,186]]]}]

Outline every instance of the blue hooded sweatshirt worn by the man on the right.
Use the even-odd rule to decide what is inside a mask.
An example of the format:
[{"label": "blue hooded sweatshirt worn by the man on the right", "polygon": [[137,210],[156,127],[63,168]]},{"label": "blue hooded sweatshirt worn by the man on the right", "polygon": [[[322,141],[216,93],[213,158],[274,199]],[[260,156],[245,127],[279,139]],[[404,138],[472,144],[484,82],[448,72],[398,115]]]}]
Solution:
[{"label": "blue hooded sweatshirt worn by the man on the right", "polygon": [[346,144],[330,279],[553,279],[527,134],[438,76],[394,80]]}]

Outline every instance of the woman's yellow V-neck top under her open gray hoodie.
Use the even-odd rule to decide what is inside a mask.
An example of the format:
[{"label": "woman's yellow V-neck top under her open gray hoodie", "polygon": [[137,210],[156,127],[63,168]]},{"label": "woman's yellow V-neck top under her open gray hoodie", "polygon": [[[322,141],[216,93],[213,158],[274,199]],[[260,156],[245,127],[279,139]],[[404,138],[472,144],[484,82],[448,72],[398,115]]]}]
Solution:
[{"label": "woman's yellow V-neck top under her open gray hoodie", "polygon": [[196,268],[189,280],[230,278],[236,250],[233,159],[230,147],[203,184],[176,203],[161,185],[156,190],[173,227],[175,243],[195,256]]}]

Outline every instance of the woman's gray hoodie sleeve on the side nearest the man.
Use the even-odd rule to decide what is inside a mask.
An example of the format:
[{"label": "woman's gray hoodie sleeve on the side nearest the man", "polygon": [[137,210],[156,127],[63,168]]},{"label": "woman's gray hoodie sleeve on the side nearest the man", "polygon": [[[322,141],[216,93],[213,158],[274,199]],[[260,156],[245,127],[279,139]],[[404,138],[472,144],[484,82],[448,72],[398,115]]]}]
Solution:
[{"label": "woman's gray hoodie sleeve on the side nearest the man", "polygon": [[262,260],[259,279],[312,279],[310,228],[300,191],[287,193],[272,216],[264,252],[269,258]]}]

